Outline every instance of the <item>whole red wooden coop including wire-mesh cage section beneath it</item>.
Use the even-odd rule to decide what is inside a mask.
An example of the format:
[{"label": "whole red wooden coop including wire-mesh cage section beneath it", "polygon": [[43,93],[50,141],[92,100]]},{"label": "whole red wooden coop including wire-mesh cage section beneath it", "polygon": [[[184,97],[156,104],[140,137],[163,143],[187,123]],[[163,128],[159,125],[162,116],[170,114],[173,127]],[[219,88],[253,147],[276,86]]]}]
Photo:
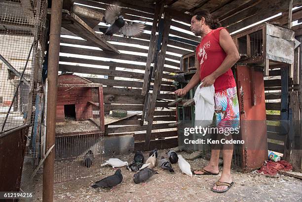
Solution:
[{"label": "whole red wooden coop including wire-mesh cage section beneath it", "polygon": [[72,74],[60,75],[59,82],[55,183],[102,173],[105,131],[102,84]]}]

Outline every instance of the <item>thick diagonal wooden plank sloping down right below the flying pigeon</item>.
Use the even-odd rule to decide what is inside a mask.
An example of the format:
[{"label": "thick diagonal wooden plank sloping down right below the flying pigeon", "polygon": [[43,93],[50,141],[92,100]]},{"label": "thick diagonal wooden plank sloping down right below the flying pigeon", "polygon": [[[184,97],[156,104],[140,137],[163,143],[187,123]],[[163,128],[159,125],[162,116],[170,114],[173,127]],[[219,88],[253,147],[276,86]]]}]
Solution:
[{"label": "thick diagonal wooden plank sloping down right below the flying pigeon", "polygon": [[63,14],[62,19],[70,20],[73,22],[62,22],[62,27],[66,28],[67,30],[73,33],[76,33],[77,36],[83,39],[97,43],[101,49],[120,54],[120,52],[112,44],[107,42],[105,39],[97,36],[93,29],[89,27],[83,20],[81,20],[76,14]]}]

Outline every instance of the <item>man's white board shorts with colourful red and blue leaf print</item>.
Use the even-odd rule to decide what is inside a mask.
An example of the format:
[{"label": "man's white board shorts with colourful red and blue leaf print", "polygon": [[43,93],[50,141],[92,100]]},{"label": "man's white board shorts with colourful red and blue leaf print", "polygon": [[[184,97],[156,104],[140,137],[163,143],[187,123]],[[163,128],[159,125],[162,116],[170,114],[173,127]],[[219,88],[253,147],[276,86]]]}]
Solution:
[{"label": "man's white board shorts with colourful red and blue leaf print", "polygon": [[239,127],[239,102],[236,86],[216,92],[214,100],[215,113],[213,120],[216,127]]}]

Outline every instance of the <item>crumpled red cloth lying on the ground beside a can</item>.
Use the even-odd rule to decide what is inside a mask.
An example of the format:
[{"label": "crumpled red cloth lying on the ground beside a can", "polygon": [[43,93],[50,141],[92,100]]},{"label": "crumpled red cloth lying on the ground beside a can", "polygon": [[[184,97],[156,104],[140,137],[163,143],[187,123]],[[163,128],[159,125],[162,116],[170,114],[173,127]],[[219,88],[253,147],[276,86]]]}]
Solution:
[{"label": "crumpled red cloth lying on the ground beside a can", "polygon": [[259,170],[258,173],[263,172],[264,175],[271,175],[274,176],[278,173],[279,170],[292,170],[293,166],[287,161],[279,161],[279,162],[272,162],[267,161],[265,162]]}]

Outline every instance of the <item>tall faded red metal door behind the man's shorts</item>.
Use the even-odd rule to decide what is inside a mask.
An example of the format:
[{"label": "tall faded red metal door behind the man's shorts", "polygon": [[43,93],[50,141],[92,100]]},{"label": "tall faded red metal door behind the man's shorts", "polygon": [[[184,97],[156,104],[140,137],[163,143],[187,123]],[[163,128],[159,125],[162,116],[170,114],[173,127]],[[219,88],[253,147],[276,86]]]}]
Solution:
[{"label": "tall faded red metal door behind the man's shorts", "polygon": [[267,133],[263,70],[236,65],[240,109],[241,169],[250,171],[267,160]]}]

